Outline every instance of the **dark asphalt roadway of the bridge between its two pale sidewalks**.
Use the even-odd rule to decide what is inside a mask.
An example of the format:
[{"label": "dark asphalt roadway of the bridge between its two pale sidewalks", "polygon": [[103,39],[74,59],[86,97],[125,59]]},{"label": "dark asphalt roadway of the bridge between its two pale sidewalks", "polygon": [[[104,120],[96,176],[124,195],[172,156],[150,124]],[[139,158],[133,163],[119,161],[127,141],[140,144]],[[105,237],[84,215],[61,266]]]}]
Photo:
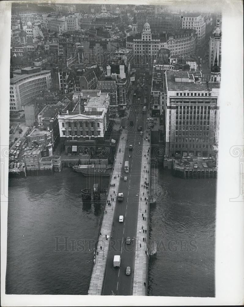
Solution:
[{"label": "dark asphalt roadway of the bridge between its two pale sidewalks", "polygon": [[[123,202],[118,202],[117,200],[115,206],[112,240],[110,239],[108,248],[102,295],[111,295],[111,293],[132,295],[135,252],[138,253],[137,250],[140,248],[137,242],[137,217],[140,200],[140,178],[141,172],[143,172],[141,161],[144,136],[140,136],[140,131],[137,130],[137,127],[141,125],[142,130],[146,130],[146,115],[142,114],[141,111],[143,105],[133,104],[129,114],[128,120],[133,122],[133,126],[128,130],[127,149],[125,149],[122,163],[122,180],[118,186],[118,192],[124,193],[124,200]],[[138,110],[138,113],[135,113],[134,108]],[[129,145],[133,145],[133,151],[129,151]],[[130,158],[129,154],[131,155]],[[125,173],[125,161],[129,161],[129,173]],[[124,176],[127,176],[127,181],[124,181]],[[118,221],[120,215],[124,216],[123,223]],[[131,237],[131,244],[126,244],[127,236]],[[119,268],[113,267],[114,255],[121,256]],[[131,267],[130,276],[125,274],[127,266]]]}]

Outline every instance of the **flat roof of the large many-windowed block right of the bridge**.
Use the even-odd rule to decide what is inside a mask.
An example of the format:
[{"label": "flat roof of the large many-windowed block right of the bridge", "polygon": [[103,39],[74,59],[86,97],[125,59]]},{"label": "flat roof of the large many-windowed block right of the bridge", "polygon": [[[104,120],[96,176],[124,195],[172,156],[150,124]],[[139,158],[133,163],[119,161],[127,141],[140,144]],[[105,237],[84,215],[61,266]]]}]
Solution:
[{"label": "flat roof of the large many-windowed block right of the bridge", "polygon": [[[206,82],[175,82],[175,74],[178,78],[187,78],[188,72],[166,72],[168,91],[207,91]],[[189,72],[190,75],[199,76],[199,72]],[[208,86],[212,88],[220,88],[220,82],[209,82]]]}]

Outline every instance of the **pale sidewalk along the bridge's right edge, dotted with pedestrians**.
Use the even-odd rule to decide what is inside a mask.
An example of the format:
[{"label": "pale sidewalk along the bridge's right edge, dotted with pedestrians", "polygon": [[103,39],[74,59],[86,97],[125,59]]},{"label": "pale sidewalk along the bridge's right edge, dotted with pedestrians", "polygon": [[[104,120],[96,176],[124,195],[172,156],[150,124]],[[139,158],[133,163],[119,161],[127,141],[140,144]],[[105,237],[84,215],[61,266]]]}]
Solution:
[{"label": "pale sidewalk along the bridge's right edge, dotted with pedestrians", "polygon": [[[150,131],[150,130],[149,130]],[[147,277],[148,277],[148,255],[147,242],[149,237],[149,188],[146,188],[150,180],[150,134],[144,132],[143,135],[143,150],[141,161],[141,180],[139,192],[139,206],[137,217],[137,246],[135,252],[134,263],[134,278],[133,278],[133,293],[132,295],[147,295]],[[145,140],[144,140],[145,138]],[[147,172],[146,172],[147,171]],[[150,185],[149,185],[150,187]],[[148,194],[149,193],[149,194]],[[144,220],[143,220],[144,217]],[[143,227],[143,229],[142,229]],[[143,232],[143,230],[145,232]],[[143,241],[143,238],[145,241]]]}]

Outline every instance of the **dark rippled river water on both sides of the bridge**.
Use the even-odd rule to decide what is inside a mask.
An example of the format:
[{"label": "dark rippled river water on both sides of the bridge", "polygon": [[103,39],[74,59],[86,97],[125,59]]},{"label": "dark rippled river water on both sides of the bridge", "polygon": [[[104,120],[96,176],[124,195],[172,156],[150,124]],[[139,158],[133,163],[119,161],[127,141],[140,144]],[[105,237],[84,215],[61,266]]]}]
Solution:
[{"label": "dark rippled river water on both sides of the bridge", "polygon": [[[149,261],[148,294],[214,296],[216,181],[161,169],[154,176],[150,238],[157,253]],[[107,188],[109,179],[102,179]],[[9,180],[7,294],[86,294],[103,200],[82,203],[85,187],[72,169]]]}]

